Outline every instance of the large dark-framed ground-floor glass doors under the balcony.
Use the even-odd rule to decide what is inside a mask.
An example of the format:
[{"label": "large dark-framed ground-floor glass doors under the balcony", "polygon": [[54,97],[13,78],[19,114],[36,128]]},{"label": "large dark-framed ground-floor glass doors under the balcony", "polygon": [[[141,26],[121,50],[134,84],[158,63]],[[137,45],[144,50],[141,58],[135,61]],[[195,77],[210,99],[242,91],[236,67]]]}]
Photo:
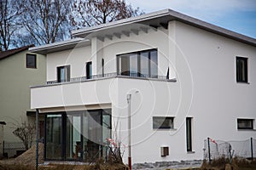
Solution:
[{"label": "large dark-framed ground-floor glass doors under the balcony", "polygon": [[111,110],[70,111],[46,115],[45,158],[95,161],[106,156],[111,138]]}]

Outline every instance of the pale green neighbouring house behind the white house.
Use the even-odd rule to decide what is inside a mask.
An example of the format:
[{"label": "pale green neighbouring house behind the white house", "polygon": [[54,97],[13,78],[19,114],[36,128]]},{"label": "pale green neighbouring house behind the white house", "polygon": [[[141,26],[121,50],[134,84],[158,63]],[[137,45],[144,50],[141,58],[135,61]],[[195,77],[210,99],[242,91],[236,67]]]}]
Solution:
[{"label": "pale green neighbouring house behind the white house", "polygon": [[[15,156],[16,150],[24,150],[13,131],[23,122],[35,123],[35,110],[30,107],[30,86],[44,83],[46,79],[46,58],[29,52],[30,47],[0,52],[0,121],[6,123],[1,141],[8,144],[4,150],[8,156]],[[44,123],[41,124],[43,130]]]}]

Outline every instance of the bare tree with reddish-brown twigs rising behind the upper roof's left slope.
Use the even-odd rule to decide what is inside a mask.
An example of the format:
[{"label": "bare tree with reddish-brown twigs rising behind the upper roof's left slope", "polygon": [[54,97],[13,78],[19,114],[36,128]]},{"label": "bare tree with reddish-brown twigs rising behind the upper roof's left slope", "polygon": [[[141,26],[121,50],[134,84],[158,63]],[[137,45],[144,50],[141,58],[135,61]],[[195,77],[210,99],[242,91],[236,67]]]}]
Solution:
[{"label": "bare tree with reddish-brown twigs rising behind the upper roof's left slope", "polygon": [[71,20],[77,27],[96,26],[140,14],[143,11],[124,0],[74,0]]}]

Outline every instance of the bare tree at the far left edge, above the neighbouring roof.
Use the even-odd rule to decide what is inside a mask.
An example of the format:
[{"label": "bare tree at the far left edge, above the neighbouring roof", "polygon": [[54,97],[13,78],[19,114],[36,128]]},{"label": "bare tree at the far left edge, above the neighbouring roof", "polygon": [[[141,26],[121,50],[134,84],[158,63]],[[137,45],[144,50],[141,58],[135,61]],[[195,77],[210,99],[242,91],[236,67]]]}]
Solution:
[{"label": "bare tree at the far left edge, above the neighbouring roof", "polygon": [[20,29],[17,18],[22,14],[22,3],[15,0],[0,0],[0,50],[8,50]]}]

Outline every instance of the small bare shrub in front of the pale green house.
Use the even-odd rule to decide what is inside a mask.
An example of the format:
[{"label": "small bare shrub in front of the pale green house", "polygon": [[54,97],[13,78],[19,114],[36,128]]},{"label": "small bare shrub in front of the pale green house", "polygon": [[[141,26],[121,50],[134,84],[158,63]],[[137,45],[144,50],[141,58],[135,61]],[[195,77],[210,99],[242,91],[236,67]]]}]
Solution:
[{"label": "small bare shrub in front of the pale green house", "polygon": [[32,147],[32,142],[35,139],[36,126],[26,122],[15,125],[13,133],[23,142],[25,149],[28,150]]}]

